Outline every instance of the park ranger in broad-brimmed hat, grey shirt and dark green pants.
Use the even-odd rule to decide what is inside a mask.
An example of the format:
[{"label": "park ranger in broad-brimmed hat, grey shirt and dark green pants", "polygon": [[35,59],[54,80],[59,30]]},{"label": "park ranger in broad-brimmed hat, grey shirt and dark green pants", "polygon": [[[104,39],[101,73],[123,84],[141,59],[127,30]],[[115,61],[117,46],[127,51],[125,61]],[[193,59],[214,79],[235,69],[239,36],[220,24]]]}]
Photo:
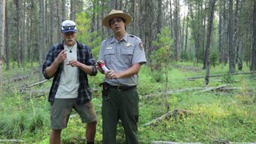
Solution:
[{"label": "park ranger in broad-brimmed hat, grey shirt and dark green pants", "polygon": [[140,38],[126,33],[132,18],[122,10],[111,10],[102,19],[102,25],[114,35],[102,41],[98,62],[109,70],[102,82],[102,130],[103,144],[116,143],[118,120],[125,130],[126,143],[138,143],[138,72],[146,63],[146,55]]}]

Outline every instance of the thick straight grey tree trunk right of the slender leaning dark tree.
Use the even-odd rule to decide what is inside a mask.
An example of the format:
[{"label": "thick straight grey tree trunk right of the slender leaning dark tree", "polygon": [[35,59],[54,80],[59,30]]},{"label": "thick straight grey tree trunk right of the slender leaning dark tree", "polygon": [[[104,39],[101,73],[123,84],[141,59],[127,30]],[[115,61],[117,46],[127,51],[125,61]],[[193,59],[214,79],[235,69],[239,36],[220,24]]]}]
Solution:
[{"label": "thick straight grey tree trunk right of the slender leaning dark tree", "polygon": [[234,54],[234,24],[233,24],[233,0],[230,0],[230,19],[229,19],[229,60],[230,74],[235,72],[235,54]]}]

